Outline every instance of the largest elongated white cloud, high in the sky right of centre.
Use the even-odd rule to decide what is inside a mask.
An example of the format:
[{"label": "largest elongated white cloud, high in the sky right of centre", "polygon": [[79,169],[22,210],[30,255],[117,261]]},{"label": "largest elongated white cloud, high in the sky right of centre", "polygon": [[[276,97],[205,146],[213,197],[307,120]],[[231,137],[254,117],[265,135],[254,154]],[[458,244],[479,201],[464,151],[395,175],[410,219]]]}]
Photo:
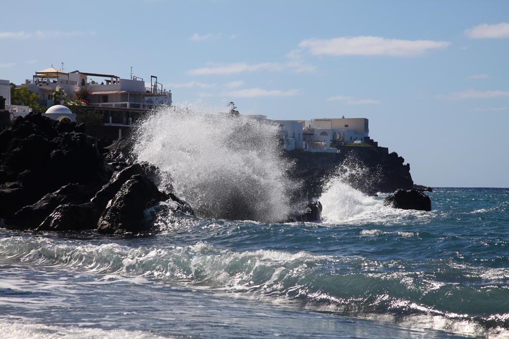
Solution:
[{"label": "largest elongated white cloud, high in the sky right of centre", "polygon": [[303,40],[299,47],[308,48],[313,55],[390,55],[417,56],[427,50],[446,48],[447,41],[399,40],[360,36],[333,39]]}]

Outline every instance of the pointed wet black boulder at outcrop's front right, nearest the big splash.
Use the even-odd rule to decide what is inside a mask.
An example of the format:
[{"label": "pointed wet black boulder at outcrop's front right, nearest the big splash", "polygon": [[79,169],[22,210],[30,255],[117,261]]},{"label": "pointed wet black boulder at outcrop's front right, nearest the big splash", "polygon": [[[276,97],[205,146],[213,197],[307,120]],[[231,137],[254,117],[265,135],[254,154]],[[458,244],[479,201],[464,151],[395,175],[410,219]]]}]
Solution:
[{"label": "pointed wet black boulder at outcrop's front right, nearest the big splash", "polygon": [[142,223],[144,211],[168,199],[145,175],[134,175],[108,203],[98,223],[99,233],[139,233],[147,230]]}]

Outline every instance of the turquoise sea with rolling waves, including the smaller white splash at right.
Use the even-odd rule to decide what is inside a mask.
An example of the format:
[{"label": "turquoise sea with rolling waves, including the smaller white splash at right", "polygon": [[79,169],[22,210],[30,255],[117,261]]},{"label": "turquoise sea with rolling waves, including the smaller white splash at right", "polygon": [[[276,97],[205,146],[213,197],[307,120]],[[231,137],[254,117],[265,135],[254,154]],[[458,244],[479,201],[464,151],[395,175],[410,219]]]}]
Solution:
[{"label": "turquoise sea with rolling waves, including the smaller white splash at right", "polygon": [[0,337],[509,337],[509,189],[427,194],[395,210],[332,182],[321,223],[0,229]]}]

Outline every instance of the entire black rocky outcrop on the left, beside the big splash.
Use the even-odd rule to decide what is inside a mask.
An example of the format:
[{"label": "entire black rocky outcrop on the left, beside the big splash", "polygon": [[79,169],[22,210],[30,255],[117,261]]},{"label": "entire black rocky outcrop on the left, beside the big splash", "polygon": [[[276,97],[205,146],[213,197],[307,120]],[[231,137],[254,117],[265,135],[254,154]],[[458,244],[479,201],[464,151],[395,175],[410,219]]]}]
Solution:
[{"label": "entire black rocky outcrop on the left, beside the big splash", "polygon": [[166,199],[176,201],[172,205],[178,206],[176,212],[193,214],[172,193],[169,174],[148,163],[132,163],[126,151],[129,142],[104,149],[82,132],[82,125],[66,119],[59,122],[29,114],[0,133],[4,225],[138,233],[146,230],[147,223],[140,219],[144,210]]}]

